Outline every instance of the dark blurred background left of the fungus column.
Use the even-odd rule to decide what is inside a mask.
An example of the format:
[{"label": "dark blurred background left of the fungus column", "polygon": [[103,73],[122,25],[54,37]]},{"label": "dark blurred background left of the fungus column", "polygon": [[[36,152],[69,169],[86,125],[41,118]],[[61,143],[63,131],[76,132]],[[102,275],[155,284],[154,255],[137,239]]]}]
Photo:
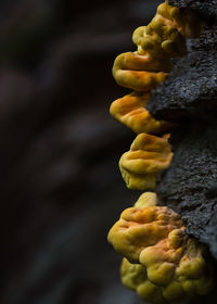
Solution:
[{"label": "dark blurred background left of the fungus column", "polygon": [[118,160],[135,135],[110,117],[126,94],[115,56],[153,0],[1,0],[2,304],[140,303],[108,229],[140,193]]}]

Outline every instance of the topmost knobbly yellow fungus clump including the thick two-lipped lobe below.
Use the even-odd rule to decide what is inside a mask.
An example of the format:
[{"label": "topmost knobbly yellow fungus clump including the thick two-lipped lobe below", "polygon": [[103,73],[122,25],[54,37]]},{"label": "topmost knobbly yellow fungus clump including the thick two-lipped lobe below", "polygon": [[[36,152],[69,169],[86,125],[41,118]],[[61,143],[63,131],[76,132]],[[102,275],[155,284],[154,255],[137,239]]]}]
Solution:
[{"label": "topmost knobbly yellow fungus clump including the thick two-lipped lobe below", "polygon": [[163,3],[148,26],[140,26],[132,35],[138,50],[118,55],[113,76],[119,86],[136,91],[150,91],[164,81],[171,68],[169,59],[186,52],[186,37],[200,31],[196,14],[181,13]]}]

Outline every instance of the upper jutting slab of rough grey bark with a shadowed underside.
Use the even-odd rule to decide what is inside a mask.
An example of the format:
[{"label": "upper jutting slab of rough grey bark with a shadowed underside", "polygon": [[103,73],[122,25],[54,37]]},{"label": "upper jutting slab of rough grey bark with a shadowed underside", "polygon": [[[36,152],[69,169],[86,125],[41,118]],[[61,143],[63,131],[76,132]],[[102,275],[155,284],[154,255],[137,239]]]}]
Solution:
[{"label": "upper jutting slab of rough grey bark with a shadowed underside", "polygon": [[210,121],[217,111],[217,26],[188,41],[168,80],[152,93],[148,109],[157,118],[183,123]]}]

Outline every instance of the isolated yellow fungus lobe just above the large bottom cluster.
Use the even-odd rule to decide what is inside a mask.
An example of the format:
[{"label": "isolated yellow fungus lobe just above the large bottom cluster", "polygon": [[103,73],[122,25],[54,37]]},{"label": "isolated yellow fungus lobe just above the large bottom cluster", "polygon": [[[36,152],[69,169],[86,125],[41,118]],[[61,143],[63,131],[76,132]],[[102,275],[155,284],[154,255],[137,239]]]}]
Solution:
[{"label": "isolated yellow fungus lobe just above the large bottom cluster", "polygon": [[123,154],[119,168],[129,189],[153,190],[159,174],[173,159],[169,135],[156,137],[149,134],[137,136],[130,151]]}]

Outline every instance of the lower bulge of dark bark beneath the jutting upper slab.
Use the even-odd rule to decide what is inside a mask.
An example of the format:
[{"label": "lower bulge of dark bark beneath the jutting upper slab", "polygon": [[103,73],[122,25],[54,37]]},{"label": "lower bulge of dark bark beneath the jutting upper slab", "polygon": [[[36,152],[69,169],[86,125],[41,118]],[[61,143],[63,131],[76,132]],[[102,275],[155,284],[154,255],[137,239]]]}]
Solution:
[{"label": "lower bulge of dark bark beneath the jutting upper slab", "polygon": [[[173,135],[176,137],[176,134]],[[162,201],[181,214],[188,232],[210,244],[217,256],[217,128],[191,126],[177,144],[169,169],[162,176],[157,193]],[[173,138],[171,138],[173,142]],[[213,226],[212,240],[209,238]],[[208,232],[207,232],[208,229]]]}]

